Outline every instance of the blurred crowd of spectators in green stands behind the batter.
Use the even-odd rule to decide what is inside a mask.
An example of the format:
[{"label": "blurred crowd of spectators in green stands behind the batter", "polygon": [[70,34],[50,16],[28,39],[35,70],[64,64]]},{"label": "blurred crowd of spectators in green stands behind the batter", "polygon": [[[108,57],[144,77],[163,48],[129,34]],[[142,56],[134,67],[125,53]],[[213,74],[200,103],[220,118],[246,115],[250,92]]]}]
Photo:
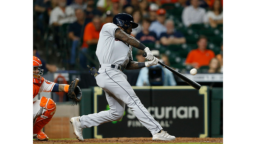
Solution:
[{"label": "blurred crowd of spectators in green stands behind the batter", "polygon": [[[191,68],[200,72],[204,67],[207,73],[223,73],[223,0],[33,2],[34,35],[43,41],[41,47],[60,53],[67,70],[99,65],[95,51],[101,28],[112,22],[116,14],[124,12],[139,24],[131,35],[150,50],[157,50],[157,57],[170,67],[185,72]],[[142,53],[133,48],[133,59],[145,61]],[[47,51],[43,54],[49,55]],[[140,85],[143,83],[148,85],[148,81]],[[175,85],[173,81],[166,83]]]}]

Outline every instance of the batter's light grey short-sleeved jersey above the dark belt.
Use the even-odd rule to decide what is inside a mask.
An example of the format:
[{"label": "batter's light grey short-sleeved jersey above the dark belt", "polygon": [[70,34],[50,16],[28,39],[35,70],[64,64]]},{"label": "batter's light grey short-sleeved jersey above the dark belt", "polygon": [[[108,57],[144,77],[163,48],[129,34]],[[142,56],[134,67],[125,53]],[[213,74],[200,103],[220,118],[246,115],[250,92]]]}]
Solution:
[{"label": "batter's light grey short-sleeved jersey above the dark belt", "polygon": [[115,30],[120,29],[113,23],[106,23],[100,31],[96,55],[100,64],[117,64],[126,67],[132,59],[132,46],[116,39]]}]

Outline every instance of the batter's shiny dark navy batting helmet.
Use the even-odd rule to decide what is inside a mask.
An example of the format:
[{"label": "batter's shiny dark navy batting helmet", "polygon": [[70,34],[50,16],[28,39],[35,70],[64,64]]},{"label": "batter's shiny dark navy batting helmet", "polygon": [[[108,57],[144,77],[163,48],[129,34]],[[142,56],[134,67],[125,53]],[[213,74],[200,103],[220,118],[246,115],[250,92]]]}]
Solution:
[{"label": "batter's shiny dark navy batting helmet", "polygon": [[133,17],[127,13],[119,13],[115,15],[113,18],[113,24],[116,24],[124,29],[130,28],[131,24],[133,29],[138,27],[138,24],[133,21]]}]

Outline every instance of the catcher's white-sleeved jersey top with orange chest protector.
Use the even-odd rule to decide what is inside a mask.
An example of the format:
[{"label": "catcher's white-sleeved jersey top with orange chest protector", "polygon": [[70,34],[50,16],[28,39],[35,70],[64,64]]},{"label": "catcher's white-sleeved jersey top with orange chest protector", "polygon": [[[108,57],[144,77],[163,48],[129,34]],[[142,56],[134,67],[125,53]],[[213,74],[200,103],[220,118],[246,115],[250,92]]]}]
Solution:
[{"label": "catcher's white-sleeved jersey top with orange chest protector", "polygon": [[54,82],[48,81],[42,77],[41,83],[33,83],[33,98],[40,92],[51,92]]}]

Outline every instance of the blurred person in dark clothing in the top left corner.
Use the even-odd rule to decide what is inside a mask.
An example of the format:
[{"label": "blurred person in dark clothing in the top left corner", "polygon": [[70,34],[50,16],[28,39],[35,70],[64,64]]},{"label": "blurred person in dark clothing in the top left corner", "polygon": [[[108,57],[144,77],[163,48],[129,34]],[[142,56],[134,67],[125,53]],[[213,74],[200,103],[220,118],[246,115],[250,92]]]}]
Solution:
[{"label": "blurred person in dark clothing in the top left corner", "polygon": [[51,0],[36,0],[34,10],[37,17],[36,25],[40,30],[40,34],[44,35],[45,25],[49,23]]}]

